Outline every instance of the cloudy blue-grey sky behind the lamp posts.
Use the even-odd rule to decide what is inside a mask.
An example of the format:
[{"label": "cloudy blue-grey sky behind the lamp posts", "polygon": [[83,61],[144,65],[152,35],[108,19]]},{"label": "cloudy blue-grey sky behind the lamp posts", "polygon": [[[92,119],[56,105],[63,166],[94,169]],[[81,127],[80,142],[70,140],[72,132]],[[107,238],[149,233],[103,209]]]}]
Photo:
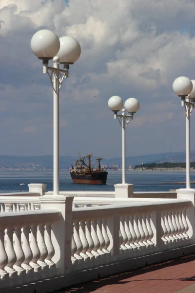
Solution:
[{"label": "cloudy blue-grey sky behind the lamp posts", "polygon": [[[172,84],[195,79],[194,20],[194,0],[0,0],[0,155],[53,153],[52,87],[30,48],[40,29],[81,46],[60,89],[60,155],[121,156],[122,129],[107,105],[114,95],[140,103],[127,156],[184,151]],[[191,121],[195,149],[193,112]]]}]

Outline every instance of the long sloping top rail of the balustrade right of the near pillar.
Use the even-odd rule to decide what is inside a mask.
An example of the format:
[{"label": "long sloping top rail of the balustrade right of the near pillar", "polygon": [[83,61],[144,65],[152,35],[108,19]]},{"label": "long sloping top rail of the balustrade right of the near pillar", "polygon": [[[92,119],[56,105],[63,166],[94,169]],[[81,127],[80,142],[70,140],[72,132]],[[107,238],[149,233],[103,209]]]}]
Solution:
[{"label": "long sloping top rail of the balustrade right of the near pillar", "polygon": [[87,208],[76,208],[73,209],[74,219],[86,219],[86,218],[96,218],[111,216],[114,213],[119,214],[129,214],[138,212],[147,212],[153,210],[163,210],[169,208],[179,208],[191,206],[192,202],[190,200],[163,200],[152,203],[131,203],[131,204],[118,204],[116,205],[106,205],[101,207],[87,207]]}]

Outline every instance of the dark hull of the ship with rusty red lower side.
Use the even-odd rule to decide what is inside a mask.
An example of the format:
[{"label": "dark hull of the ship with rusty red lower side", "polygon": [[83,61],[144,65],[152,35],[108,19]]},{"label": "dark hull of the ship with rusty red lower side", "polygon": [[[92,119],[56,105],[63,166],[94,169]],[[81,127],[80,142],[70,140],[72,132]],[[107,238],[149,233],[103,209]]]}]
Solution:
[{"label": "dark hull of the ship with rusty red lower side", "polygon": [[79,184],[96,184],[96,185],[105,185],[107,180],[108,172],[97,172],[91,174],[75,174],[73,172],[70,173],[71,178],[74,183]]}]

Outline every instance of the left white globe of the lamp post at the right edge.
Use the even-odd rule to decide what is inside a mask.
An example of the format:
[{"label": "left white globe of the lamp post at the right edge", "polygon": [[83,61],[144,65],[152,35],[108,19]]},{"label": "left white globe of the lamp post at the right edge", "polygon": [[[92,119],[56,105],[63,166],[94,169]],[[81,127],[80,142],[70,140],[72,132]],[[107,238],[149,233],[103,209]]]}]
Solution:
[{"label": "left white globe of the lamp post at the right edge", "polygon": [[180,76],[176,78],[176,80],[173,83],[173,90],[179,97],[186,97],[188,96],[193,89],[192,81],[185,76]]}]

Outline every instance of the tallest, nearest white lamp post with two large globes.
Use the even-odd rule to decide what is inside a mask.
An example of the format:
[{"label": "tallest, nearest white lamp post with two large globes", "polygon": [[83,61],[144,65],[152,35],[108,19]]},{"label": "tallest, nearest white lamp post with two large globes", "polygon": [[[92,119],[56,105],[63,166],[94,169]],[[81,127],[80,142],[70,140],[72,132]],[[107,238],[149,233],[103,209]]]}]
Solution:
[{"label": "tallest, nearest white lamp post with two large globes", "polygon": [[[59,195],[59,89],[63,79],[68,78],[69,65],[80,56],[80,45],[74,38],[59,39],[54,32],[43,29],[32,37],[31,49],[42,60],[43,73],[48,74],[54,91],[54,195]],[[52,58],[54,67],[48,66]]]}]

